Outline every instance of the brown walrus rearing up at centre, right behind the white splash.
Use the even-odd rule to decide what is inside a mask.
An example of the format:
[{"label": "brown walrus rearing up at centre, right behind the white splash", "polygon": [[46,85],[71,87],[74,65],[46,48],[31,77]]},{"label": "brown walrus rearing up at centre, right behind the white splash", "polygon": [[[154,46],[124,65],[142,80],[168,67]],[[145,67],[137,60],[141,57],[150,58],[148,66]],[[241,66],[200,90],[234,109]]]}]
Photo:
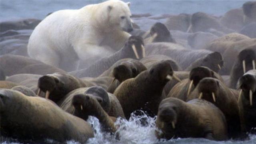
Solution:
[{"label": "brown walrus rearing up at centre, right behind the white splash", "polygon": [[118,98],[127,119],[134,110],[149,109],[157,114],[157,106],[163,99],[161,94],[165,84],[172,78],[172,67],[167,61],[158,62],[151,69],[141,72],[135,78],[122,82],[114,95]]}]

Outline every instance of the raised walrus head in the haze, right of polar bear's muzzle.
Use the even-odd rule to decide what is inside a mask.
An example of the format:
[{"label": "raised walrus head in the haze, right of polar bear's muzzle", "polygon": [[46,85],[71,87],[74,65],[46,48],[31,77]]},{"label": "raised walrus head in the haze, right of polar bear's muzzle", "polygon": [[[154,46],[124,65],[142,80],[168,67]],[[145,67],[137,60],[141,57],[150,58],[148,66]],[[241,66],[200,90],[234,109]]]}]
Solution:
[{"label": "raised walrus head in the haze, right of polar bear's muzzle", "polygon": [[176,43],[168,28],[160,22],[155,23],[150,29],[152,42],[173,42]]}]

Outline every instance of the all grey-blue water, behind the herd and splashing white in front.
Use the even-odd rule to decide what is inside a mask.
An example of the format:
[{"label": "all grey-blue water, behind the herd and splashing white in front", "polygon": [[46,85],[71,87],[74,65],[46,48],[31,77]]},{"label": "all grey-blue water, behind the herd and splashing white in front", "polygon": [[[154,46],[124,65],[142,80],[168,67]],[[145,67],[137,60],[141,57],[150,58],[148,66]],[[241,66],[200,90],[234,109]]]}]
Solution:
[{"label": "all grey-blue water, behind the herd and splashing white in front", "polygon": [[[43,19],[48,13],[61,9],[78,9],[87,4],[100,3],[103,0],[0,0],[0,21],[16,18],[38,18]],[[124,0],[131,2],[133,14],[150,13],[180,14],[194,12],[206,12],[216,16],[223,15],[228,10],[240,8],[245,0]],[[141,124],[146,119],[147,124]],[[93,125],[95,137],[88,140],[88,144],[256,144],[256,135],[250,135],[249,140],[228,140],[216,142],[204,138],[178,138],[171,140],[158,140],[154,135],[156,126],[155,118],[143,116],[132,116],[130,120],[118,119],[118,133],[120,140],[115,136],[102,132],[100,123],[94,117],[88,122]],[[1,139],[1,137],[0,137]],[[47,140],[51,142],[51,140]],[[2,144],[18,144],[11,140],[1,141]],[[52,143],[54,143],[52,141]],[[68,141],[68,144],[78,144]]]}]

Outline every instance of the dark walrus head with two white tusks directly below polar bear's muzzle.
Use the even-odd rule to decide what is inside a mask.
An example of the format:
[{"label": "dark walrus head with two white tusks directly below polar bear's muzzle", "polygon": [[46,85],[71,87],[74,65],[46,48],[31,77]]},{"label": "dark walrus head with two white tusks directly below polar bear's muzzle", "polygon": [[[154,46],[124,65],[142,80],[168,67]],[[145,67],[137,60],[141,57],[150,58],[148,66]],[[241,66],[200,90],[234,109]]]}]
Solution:
[{"label": "dark walrus head with two white tusks directly below polar bear's muzzle", "polygon": [[121,50],[130,58],[141,59],[145,57],[144,42],[141,36],[130,36]]}]

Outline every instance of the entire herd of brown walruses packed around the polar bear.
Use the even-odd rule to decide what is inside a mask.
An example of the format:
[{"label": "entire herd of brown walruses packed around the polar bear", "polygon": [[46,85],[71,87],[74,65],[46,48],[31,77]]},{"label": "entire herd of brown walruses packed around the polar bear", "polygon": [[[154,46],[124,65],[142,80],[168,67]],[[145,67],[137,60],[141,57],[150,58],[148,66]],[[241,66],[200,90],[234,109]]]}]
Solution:
[{"label": "entire herd of brown walruses packed around the polar bear", "polygon": [[[156,116],[159,139],[256,134],[255,1],[220,17],[164,15],[148,31],[140,23],[150,14],[132,18],[137,25],[120,50],[71,71],[24,53],[40,20],[26,27],[0,22],[0,136],[86,143],[94,137],[87,122],[94,116],[119,139],[116,119],[136,110]],[[11,45],[17,40],[20,49]]]}]

